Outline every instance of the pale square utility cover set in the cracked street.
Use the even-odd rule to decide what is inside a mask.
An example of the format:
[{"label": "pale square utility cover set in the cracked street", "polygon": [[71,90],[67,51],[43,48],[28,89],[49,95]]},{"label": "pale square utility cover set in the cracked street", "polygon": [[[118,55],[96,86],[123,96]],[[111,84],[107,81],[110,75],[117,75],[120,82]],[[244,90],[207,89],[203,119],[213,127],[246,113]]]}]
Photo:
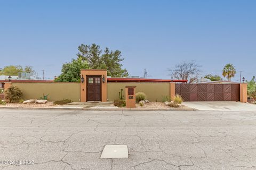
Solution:
[{"label": "pale square utility cover set in the cracked street", "polygon": [[100,159],[128,158],[127,145],[106,145]]}]

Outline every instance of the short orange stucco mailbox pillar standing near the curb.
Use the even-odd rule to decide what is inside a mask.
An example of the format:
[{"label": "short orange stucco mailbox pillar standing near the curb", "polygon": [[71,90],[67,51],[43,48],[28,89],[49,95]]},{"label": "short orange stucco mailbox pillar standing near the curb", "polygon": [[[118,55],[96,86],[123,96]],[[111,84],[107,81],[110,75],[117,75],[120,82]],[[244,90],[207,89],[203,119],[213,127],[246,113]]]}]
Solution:
[{"label": "short orange stucco mailbox pillar standing near the curb", "polygon": [[125,103],[127,108],[136,107],[135,88],[136,86],[125,86]]}]

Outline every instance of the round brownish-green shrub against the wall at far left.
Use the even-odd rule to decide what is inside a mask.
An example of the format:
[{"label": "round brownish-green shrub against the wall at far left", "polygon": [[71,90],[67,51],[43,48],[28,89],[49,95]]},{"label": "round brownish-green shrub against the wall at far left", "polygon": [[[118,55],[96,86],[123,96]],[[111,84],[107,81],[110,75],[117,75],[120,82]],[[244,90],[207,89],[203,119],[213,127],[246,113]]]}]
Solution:
[{"label": "round brownish-green shrub against the wall at far left", "polygon": [[8,103],[17,103],[22,96],[22,91],[18,86],[10,86],[5,90],[5,99]]}]

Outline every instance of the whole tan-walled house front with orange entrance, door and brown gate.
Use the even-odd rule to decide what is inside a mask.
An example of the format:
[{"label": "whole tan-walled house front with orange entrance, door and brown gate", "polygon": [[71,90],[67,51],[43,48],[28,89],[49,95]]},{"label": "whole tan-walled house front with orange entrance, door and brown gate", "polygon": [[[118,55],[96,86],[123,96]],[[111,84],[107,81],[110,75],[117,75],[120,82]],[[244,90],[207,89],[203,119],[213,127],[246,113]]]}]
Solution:
[{"label": "whole tan-walled house front with orange entrance, door and brown gate", "polygon": [[[107,78],[107,70],[81,70],[81,82],[54,82],[12,80],[4,81],[4,88],[11,85],[22,89],[24,100],[38,99],[49,94],[49,100],[114,101],[126,86],[136,86],[136,92],[144,92],[149,101],[179,94],[185,101],[242,101],[247,100],[246,83],[187,84],[187,80],[163,80],[144,78]],[[124,93],[125,97],[125,93]]]}]

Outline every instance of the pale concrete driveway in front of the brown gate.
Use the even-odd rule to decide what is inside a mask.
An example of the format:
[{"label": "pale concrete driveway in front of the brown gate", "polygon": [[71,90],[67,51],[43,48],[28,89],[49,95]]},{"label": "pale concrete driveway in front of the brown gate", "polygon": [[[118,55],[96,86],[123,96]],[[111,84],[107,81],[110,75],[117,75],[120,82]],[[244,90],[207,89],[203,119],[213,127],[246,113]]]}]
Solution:
[{"label": "pale concrete driveway in front of the brown gate", "polygon": [[236,101],[187,101],[182,105],[199,111],[256,111],[256,105]]}]

